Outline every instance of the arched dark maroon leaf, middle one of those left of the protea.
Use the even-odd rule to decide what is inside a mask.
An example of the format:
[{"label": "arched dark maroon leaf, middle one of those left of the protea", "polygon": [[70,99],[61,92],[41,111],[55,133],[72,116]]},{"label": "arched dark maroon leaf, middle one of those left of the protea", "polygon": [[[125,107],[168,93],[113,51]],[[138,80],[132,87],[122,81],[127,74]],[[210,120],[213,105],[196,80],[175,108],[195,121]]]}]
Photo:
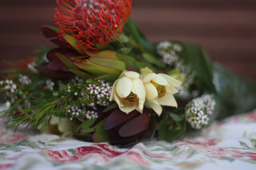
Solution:
[{"label": "arched dark maroon leaf, middle one of those left of the protea", "polygon": [[56,57],[56,55],[54,53],[60,53],[66,57],[77,57],[77,56],[81,56],[80,53],[78,53],[76,50],[74,49],[69,49],[69,48],[56,48],[56,49],[52,49],[50,51],[48,51],[46,57],[48,60],[52,60],[52,59],[55,59],[55,58],[58,58]]}]

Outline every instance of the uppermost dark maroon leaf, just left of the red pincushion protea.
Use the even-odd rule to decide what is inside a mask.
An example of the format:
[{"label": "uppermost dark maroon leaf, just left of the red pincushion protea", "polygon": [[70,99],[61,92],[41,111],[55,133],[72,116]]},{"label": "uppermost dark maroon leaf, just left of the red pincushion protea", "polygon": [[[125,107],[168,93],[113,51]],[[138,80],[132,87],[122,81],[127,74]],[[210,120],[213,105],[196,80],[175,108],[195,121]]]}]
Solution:
[{"label": "uppermost dark maroon leaf, just left of the red pincushion protea", "polygon": [[68,47],[68,43],[64,41],[60,41],[60,38],[58,37],[58,33],[48,27],[44,27],[44,25],[41,26],[42,33],[47,38],[46,40],[50,40],[53,43],[57,44],[60,47]]}]

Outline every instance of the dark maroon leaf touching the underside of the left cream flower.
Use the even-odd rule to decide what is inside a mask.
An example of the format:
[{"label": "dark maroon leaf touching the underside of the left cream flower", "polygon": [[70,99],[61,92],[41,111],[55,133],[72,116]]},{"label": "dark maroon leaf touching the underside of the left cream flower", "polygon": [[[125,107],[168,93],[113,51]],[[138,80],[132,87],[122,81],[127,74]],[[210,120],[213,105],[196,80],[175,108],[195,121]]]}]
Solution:
[{"label": "dark maroon leaf touching the underside of the left cream flower", "polygon": [[126,114],[122,112],[119,108],[114,109],[114,111],[112,111],[112,113],[107,117],[105,123],[102,126],[102,129],[105,129],[105,130],[111,129],[131,119],[132,117],[135,117],[138,114],[140,114],[140,112],[136,110],[131,111],[129,114]]}]

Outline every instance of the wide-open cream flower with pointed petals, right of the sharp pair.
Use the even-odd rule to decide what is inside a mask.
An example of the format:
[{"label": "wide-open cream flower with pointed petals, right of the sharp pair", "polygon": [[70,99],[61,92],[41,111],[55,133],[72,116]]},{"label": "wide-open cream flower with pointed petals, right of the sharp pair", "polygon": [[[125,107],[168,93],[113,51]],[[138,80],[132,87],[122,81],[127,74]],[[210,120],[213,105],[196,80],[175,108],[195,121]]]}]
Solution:
[{"label": "wide-open cream flower with pointed petals, right of the sharp pair", "polygon": [[158,115],[162,113],[161,105],[177,107],[172,94],[178,92],[175,87],[180,86],[182,82],[167,74],[156,74],[149,68],[142,68],[140,72],[146,91],[146,102]]}]

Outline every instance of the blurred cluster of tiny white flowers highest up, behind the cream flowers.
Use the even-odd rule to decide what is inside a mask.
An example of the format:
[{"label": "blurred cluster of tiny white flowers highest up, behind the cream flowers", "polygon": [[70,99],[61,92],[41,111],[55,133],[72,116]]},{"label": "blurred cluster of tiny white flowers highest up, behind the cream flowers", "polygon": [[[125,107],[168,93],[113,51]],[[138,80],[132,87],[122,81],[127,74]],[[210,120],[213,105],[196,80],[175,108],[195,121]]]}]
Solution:
[{"label": "blurred cluster of tiny white flowers highest up, behind the cream flowers", "polygon": [[163,57],[163,63],[174,65],[182,72],[185,70],[184,61],[180,60],[177,52],[182,51],[182,46],[178,43],[171,43],[170,41],[162,41],[156,46],[158,55]]}]

